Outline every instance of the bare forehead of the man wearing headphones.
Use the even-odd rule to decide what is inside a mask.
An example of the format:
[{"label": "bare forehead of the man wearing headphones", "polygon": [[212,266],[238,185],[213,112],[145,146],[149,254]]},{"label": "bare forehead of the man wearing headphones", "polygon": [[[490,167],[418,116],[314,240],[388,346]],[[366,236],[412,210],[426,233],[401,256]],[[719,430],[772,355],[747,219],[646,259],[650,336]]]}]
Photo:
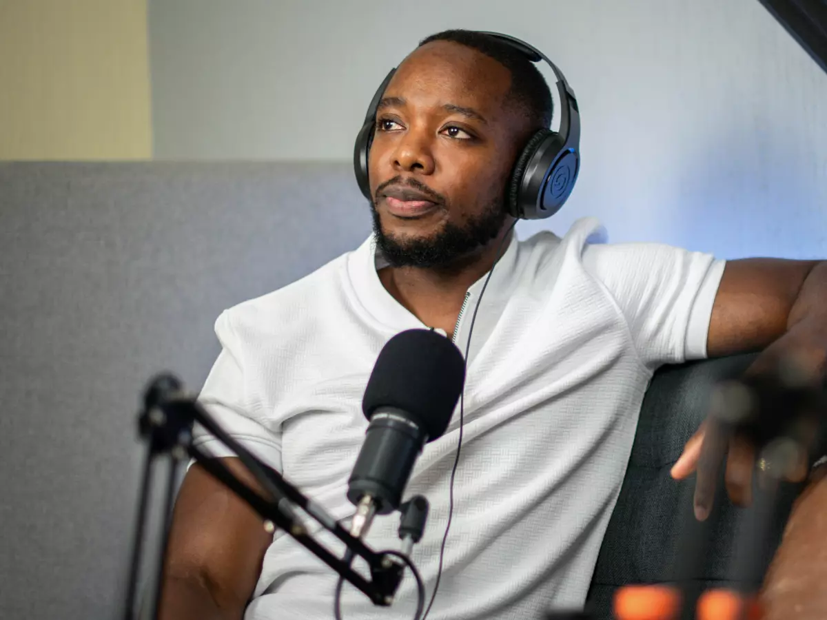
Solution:
[{"label": "bare forehead of the man wearing headphones", "polygon": [[510,86],[509,69],[490,56],[452,41],[433,41],[399,64],[385,97],[413,105],[452,103],[495,116],[503,110]]}]

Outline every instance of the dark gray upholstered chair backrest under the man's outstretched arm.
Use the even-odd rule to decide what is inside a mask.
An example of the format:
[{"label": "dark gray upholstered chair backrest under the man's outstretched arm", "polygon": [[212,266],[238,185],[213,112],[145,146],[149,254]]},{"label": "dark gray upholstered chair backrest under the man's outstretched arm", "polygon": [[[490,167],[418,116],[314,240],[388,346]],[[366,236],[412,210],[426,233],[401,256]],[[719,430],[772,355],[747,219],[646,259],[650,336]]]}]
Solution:
[{"label": "dark gray upholstered chair backrest under the man's outstretched arm", "polygon": [[[589,591],[595,618],[611,618],[614,590],[625,584],[666,583],[681,569],[681,534],[708,536],[708,553],[700,574],[693,575],[698,589],[734,585],[730,573],[736,554],[739,523],[745,516],[726,497],[723,474],[715,508],[706,524],[692,516],[695,476],[676,482],[669,475],[683,446],[708,413],[716,382],[734,378],[754,360],[755,354],[733,355],[657,370],[643,400],[623,487],[600,548]],[[781,540],[792,501],[800,490],[782,487],[771,536],[758,553],[766,567]]]}]

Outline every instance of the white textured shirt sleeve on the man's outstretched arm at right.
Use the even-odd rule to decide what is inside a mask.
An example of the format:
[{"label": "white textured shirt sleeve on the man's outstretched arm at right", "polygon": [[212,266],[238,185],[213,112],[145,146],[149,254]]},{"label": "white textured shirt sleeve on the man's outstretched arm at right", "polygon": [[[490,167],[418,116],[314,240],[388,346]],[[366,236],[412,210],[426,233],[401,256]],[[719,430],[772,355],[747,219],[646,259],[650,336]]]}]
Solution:
[{"label": "white textured shirt sleeve on the man's outstretched arm at right", "polygon": [[649,368],[706,357],[725,260],[656,243],[589,245],[586,269],[605,285]]}]

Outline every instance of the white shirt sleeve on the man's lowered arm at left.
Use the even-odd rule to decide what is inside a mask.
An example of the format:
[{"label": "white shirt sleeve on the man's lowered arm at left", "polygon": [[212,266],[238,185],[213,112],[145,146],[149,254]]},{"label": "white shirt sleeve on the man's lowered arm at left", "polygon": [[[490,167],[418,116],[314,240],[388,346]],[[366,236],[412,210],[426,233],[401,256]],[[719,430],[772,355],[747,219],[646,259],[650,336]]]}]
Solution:
[{"label": "white shirt sleeve on the man's lowered arm at left", "polygon": [[[222,312],[215,322],[215,333],[222,350],[204,383],[198,400],[233,439],[266,465],[281,471],[280,427],[270,428],[261,408],[246,390],[244,347],[232,328],[229,312]],[[194,427],[194,446],[213,457],[235,456],[215,436],[200,425]]]}]

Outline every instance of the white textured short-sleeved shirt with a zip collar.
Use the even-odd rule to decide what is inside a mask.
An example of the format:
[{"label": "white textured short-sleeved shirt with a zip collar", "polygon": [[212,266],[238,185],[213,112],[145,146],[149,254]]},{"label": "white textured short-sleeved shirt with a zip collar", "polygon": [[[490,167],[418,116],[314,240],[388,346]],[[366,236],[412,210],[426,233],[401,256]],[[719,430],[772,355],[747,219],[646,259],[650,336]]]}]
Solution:
[{"label": "white textured short-sleeved shirt with a zip collar", "polygon": [[[562,239],[515,239],[495,267],[467,360],[455,507],[431,620],[524,620],[549,606],[581,607],[653,371],[706,355],[724,261],[595,242],[601,235],[584,218]],[[223,350],[203,388],[203,397],[246,411],[211,408],[232,436],[346,522],[354,512],[347,479],[367,427],[361,398],[376,356],[399,331],[428,327],[385,290],[380,265],[371,237],[223,312]],[[463,352],[483,280],[469,289],[455,335]],[[412,556],[428,598],[458,424],[457,408],[445,434],[425,446],[405,494],[431,503]],[[197,443],[231,455],[203,433]],[[398,515],[377,517],[367,543],[398,550],[398,526]],[[335,583],[327,565],[277,531],[245,618],[332,618]],[[346,585],[342,617],[407,620],[415,599],[410,576],[391,608],[373,607]]]}]

